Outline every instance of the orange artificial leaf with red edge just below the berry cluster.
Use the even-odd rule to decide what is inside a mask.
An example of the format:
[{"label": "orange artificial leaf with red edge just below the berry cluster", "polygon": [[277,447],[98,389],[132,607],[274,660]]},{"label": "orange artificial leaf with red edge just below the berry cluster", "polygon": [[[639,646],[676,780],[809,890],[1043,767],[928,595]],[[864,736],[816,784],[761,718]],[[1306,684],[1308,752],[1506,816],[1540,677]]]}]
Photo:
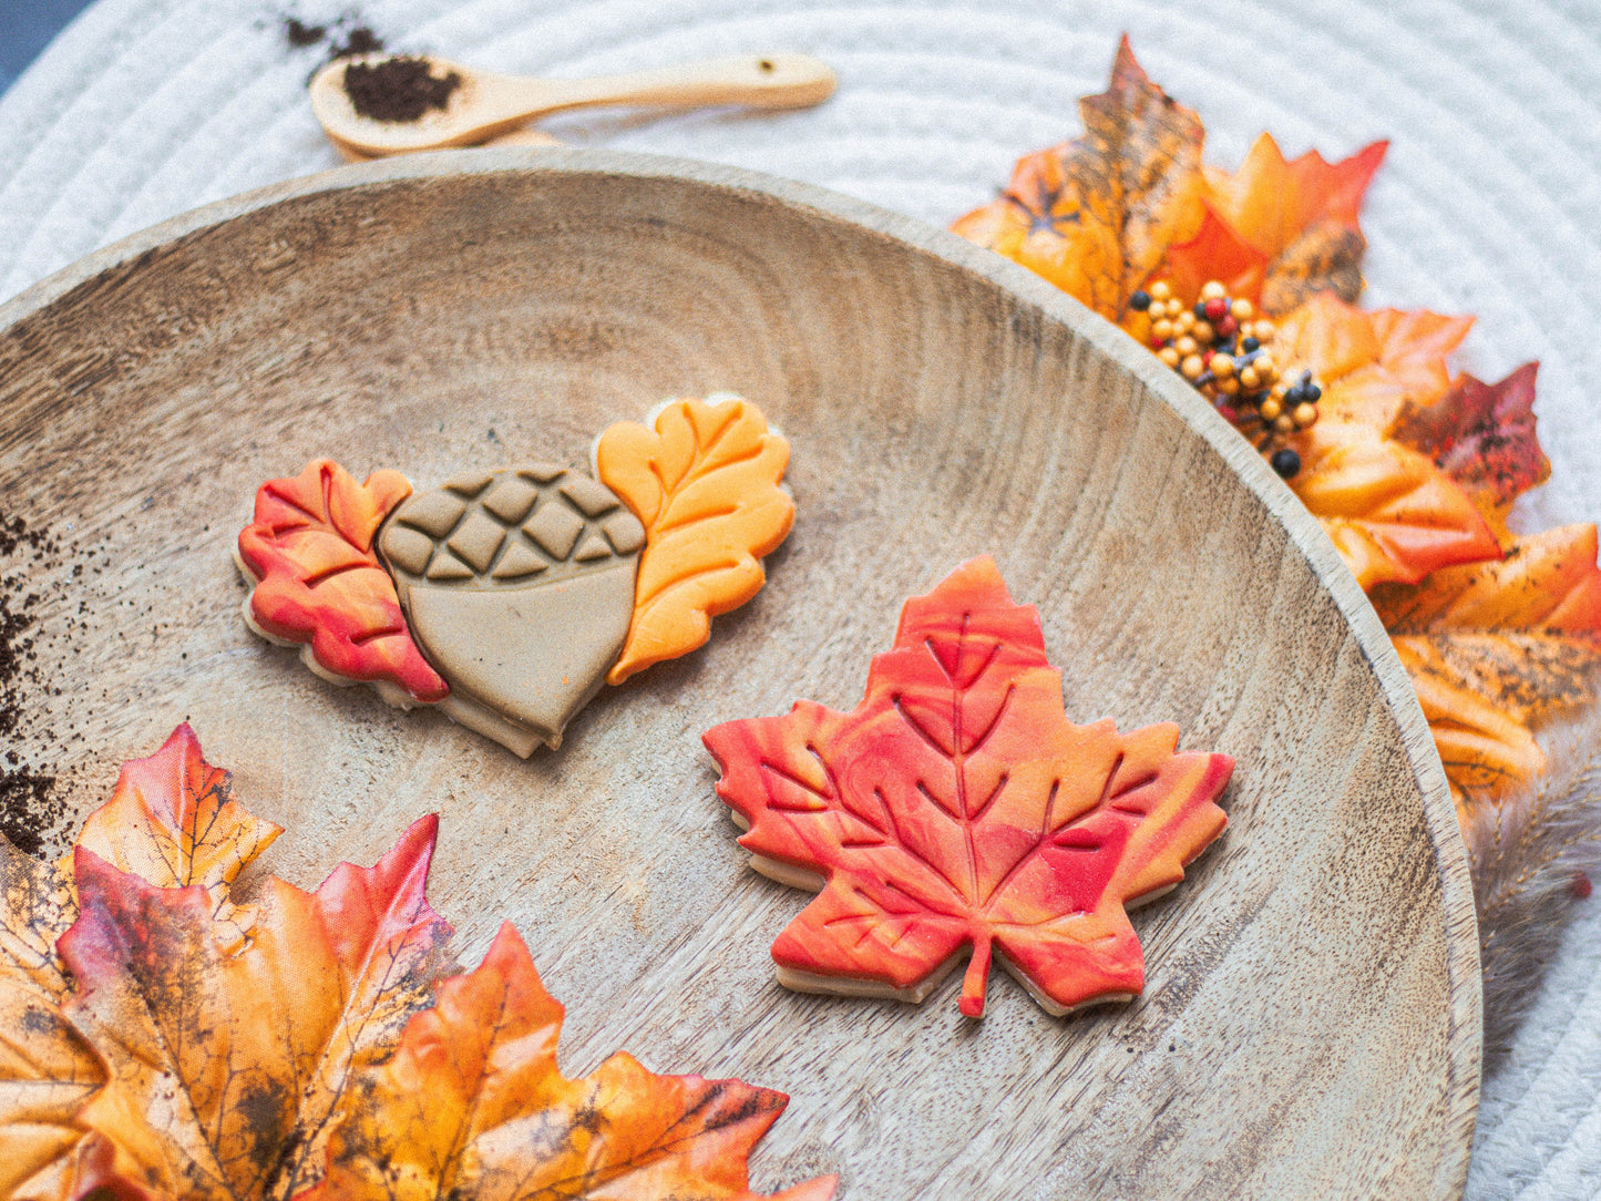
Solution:
[{"label": "orange artificial leaf with red edge just below the berry cluster", "polygon": [[1364,426],[1314,426],[1290,487],[1362,588],[1500,556],[1473,500],[1431,460]]}]

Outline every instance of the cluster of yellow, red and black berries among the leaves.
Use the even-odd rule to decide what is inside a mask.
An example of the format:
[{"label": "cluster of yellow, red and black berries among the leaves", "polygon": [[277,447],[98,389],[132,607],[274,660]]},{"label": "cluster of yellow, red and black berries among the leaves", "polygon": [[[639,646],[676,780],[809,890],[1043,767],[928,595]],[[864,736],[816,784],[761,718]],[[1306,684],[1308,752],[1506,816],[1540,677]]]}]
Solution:
[{"label": "cluster of yellow, red and black berries among the leaves", "polygon": [[1151,322],[1156,357],[1178,372],[1234,424],[1260,423],[1263,431],[1290,434],[1318,421],[1322,391],[1310,373],[1294,384],[1268,352],[1273,322],[1244,298],[1210,280],[1193,307],[1159,280],[1137,291],[1129,306]]}]

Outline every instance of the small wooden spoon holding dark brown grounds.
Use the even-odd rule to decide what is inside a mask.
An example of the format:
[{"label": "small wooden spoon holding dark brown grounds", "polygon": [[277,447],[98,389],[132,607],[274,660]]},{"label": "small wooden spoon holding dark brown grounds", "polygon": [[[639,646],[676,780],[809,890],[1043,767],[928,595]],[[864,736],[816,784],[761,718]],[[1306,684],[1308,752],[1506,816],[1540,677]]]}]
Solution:
[{"label": "small wooden spoon holding dark brown grounds", "polygon": [[562,109],[602,104],[690,109],[744,104],[757,109],[802,109],[834,93],[834,72],[809,54],[749,54],[685,62],[629,75],[583,80],[492,75],[442,58],[427,58],[431,74],[455,72],[461,83],[443,109],[416,120],[363,117],[344,86],[352,64],[375,66],[395,54],[362,54],[330,62],[311,82],[311,107],[341,149],[367,157],[471,146]]}]

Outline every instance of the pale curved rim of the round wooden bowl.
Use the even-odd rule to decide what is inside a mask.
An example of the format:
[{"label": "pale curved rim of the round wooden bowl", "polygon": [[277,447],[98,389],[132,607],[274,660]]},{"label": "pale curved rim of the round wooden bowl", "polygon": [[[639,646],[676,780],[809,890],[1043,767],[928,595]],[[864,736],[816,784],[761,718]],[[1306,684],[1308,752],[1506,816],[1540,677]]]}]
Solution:
[{"label": "pale curved rim of the round wooden bowl", "polygon": [[[716,163],[616,151],[573,149],[479,149],[439,151],[368,163],[338,167],[299,179],[272,184],[237,197],[170,218],[102,250],[98,250],[0,304],[0,330],[62,299],[96,277],[136,266],[141,256],[181,242],[200,231],[224,224],[299,197],[339,192],[410,179],[485,175],[612,175],[680,179],[712,189],[759,195],[792,208],[861,226],[882,237],[933,255],[962,271],[980,275],[1036,307],[1047,319],[1068,325],[1100,354],[1164,400],[1180,420],[1199,434],[1230,466],[1236,477],[1286,528],[1290,541],[1310,562],[1318,581],[1329,591],[1350,625],[1358,645],[1374,668],[1401,732],[1407,762],[1423,794],[1423,817],[1441,876],[1451,978],[1452,1031],[1447,1047],[1451,1079],[1446,1135],[1455,1156],[1441,1164],[1438,1177],[1452,1193],[1467,1183],[1468,1158],[1479,1097],[1483,1042],[1483,980],[1479,975],[1478,914],[1468,873],[1467,847],[1457,823],[1455,805],[1446,785],[1444,767],[1434,749],[1417,693],[1401,666],[1390,636],[1367,602],[1356,578],[1345,567],[1318,520],[1212,407],[1178,376],[1164,368],[1122,330],[1060,291],[1031,271],[983,250],[954,234],[914,218],[776,176]],[[1454,1135],[1454,1137],[1451,1137]]]}]

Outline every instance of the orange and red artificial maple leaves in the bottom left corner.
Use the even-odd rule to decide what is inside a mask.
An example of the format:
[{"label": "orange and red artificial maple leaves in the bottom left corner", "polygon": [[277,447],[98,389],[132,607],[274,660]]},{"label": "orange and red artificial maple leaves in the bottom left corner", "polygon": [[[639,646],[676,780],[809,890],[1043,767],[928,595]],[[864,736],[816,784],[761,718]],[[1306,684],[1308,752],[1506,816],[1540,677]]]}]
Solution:
[{"label": "orange and red artificial maple leaves in the bottom left corner", "polygon": [[[101,854],[80,844],[70,868],[42,865],[0,839],[0,1015],[21,1018],[0,1055],[0,1081],[18,1086],[0,1089],[6,1196],[365,1196],[375,1166],[352,1148],[376,1132],[397,1164],[455,1148],[405,1196],[530,1196],[495,1187],[540,1179],[575,1199],[754,1201],[744,1158],[781,1094],[653,1076],[626,1055],[564,1079],[560,1007],[509,927],[485,967],[440,980],[450,927],[424,895],[435,818],[314,894],[266,878],[242,937],[218,894],[275,829],[232,801],[181,727],[125,765],[90,820]],[[495,999],[504,1009],[484,1007]],[[384,1092],[424,1065],[443,1070],[426,1097]],[[408,1124],[418,1105],[423,1129]],[[568,1142],[541,1140],[560,1113]],[[781,1196],[826,1201],[833,1185]]]}]

